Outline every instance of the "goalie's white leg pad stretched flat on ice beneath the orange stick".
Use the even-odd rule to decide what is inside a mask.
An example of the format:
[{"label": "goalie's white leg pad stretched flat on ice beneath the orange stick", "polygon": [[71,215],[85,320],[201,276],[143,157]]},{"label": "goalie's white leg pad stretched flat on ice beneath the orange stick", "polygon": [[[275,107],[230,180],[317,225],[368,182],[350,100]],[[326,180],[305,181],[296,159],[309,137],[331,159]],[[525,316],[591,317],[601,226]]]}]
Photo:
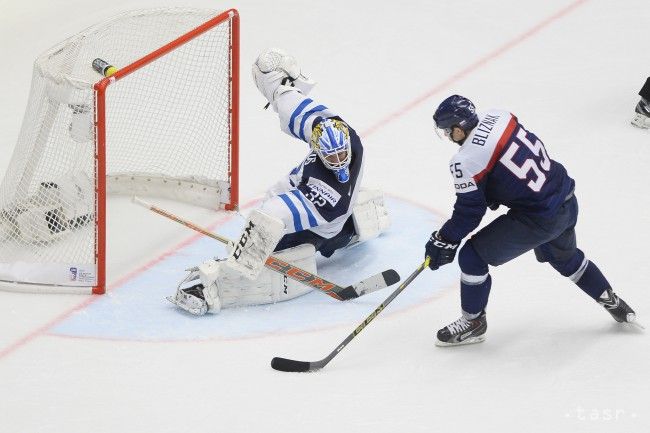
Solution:
[{"label": "goalie's white leg pad stretched flat on ice beneath the orange stick", "polygon": [[[316,250],[311,244],[279,251],[274,253],[274,257],[316,273]],[[218,313],[221,308],[286,301],[312,290],[267,268],[251,281],[225,263],[212,260],[199,266],[199,276],[205,287],[203,294],[210,313]]]}]

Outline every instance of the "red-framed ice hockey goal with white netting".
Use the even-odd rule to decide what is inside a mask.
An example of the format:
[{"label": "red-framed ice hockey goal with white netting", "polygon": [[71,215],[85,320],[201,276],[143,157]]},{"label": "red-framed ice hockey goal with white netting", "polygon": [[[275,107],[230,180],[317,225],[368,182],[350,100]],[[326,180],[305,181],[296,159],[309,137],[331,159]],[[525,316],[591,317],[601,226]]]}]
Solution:
[{"label": "red-framed ice hockey goal with white netting", "polygon": [[104,293],[107,193],[235,209],[238,68],[234,9],[129,12],[42,54],[0,186],[0,288]]}]

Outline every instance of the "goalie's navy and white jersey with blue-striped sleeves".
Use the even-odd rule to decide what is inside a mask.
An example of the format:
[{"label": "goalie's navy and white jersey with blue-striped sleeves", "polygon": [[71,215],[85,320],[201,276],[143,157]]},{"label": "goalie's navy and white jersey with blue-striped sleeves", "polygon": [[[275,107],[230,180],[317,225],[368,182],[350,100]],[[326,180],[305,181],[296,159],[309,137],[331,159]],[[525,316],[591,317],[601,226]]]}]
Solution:
[{"label": "goalie's navy and white jersey with blue-striped sleeves", "polygon": [[[298,90],[282,93],[273,104],[288,135],[310,143],[312,128],[323,119],[341,119],[327,106]],[[347,124],[347,123],[346,123]],[[339,182],[315,151],[282,178],[267,194],[262,210],[281,218],[286,233],[310,230],[323,238],[336,236],[352,214],[363,175],[363,146],[348,125],[352,160],[350,178]]]}]

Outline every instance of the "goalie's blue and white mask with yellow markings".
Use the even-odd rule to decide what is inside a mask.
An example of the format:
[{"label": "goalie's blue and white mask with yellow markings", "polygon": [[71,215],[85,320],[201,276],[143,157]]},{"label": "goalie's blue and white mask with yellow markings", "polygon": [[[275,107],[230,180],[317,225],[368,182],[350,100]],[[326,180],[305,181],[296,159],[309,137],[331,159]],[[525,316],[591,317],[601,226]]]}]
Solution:
[{"label": "goalie's blue and white mask with yellow markings", "polygon": [[321,120],[312,131],[311,148],[318,154],[325,167],[334,171],[339,182],[350,180],[352,146],[350,131],[345,122],[335,119]]}]

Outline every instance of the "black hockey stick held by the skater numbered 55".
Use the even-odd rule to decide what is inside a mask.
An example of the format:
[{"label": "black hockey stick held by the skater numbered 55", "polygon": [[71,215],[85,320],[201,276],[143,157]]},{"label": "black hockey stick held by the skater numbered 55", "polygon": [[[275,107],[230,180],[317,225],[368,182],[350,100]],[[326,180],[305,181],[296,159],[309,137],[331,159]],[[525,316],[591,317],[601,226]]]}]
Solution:
[{"label": "black hockey stick held by the skater numbered 55", "polygon": [[345,338],[345,340],[343,340],[341,344],[339,344],[336,347],[336,349],[334,349],[325,358],[321,359],[320,361],[308,362],[308,361],[295,361],[293,359],[275,357],[271,360],[271,368],[278,371],[297,373],[297,372],[305,372],[305,371],[316,371],[325,367],[332,360],[332,358],[338,355],[339,352],[343,350],[343,348],[345,348],[345,346],[347,346],[348,343],[352,341],[354,337],[356,337],[361,331],[363,331],[363,329],[366,326],[368,326],[368,324],[372,322],[375,319],[375,317],[377,317],[379,313],[381,313],[383,309],[386,308],[386,306],[390,304],[393,301],[393,299],[397,297],[397,295],[402,293],[402,290],[404,290],[406,286],[411,284],[411,282],[415,280],[415,277],[420,275],[420,272],[422,272],[424,269],[426,269],[429,266],[429,260],[430,260],[429,257],[427,257],[424,260],[424,262],[415,270],[415,272],[413,272],[406,280],[404,280],[404,282],[400,284],[400,286],[397,289],[395,289],[395,291],[391,293],[390,296],[386,298],[384,302],[382,302],[379,305],[379,307],[375,308],[375,311],[370,313],[370,315],[366,317],[366,319],[363,322],[361,322],[361,324],[357,326],[357,328],[354,331],[352,331],[352,333],[348,335]]}]

